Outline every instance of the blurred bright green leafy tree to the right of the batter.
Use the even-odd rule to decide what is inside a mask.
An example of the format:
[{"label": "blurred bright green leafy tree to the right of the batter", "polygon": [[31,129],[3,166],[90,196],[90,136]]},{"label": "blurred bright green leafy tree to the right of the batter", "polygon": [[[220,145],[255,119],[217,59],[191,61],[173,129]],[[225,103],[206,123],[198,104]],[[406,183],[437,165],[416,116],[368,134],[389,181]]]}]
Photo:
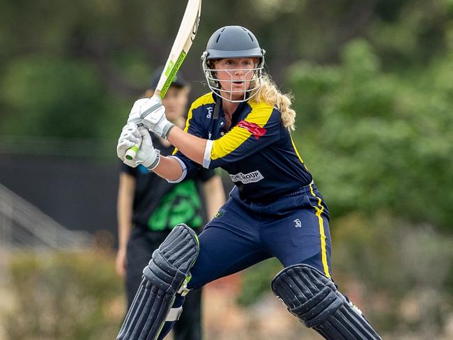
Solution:
[{"label": "blurred bright green leafy tree to the right of the batter", "polygon": [[333,215],[388,210],[453,231],[447,60],[410,84],[382,72],[369,44],[356,40],[338,66],[291,68],[301,152],[323,183]]}]

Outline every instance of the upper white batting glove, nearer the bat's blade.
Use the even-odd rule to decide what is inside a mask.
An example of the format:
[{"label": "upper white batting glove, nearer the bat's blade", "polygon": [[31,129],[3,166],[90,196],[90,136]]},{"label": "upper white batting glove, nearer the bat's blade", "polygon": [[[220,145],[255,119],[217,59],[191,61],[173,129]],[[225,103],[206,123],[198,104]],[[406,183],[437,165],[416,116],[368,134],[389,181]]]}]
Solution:
[{"label": "upper white batting glove, nearer the bat's blade", "polygon": [[174,123],[168,121],[167,116],[165,116],[165,107],[162,105],[162,101],[155,97],[137,100],[130,111],[128,122],[130,121],[133,123],[139,121],[148,130],[163,139],[167,139],[171,127],[174,127]]}]

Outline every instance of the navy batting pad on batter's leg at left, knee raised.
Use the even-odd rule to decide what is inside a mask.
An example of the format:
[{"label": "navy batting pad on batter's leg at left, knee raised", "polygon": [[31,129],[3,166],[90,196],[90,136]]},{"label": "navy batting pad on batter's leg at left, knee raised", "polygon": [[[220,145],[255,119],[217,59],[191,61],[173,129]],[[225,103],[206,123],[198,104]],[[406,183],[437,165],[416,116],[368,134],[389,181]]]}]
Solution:
[{"label": "navy batting pad on batter's leg at left, knee raised", "polygon": [[143,270],[141,284],[125,317],[117,340],[154,340],[169,314],[176,293],[197,260],[197,234],[178,224]]}]

